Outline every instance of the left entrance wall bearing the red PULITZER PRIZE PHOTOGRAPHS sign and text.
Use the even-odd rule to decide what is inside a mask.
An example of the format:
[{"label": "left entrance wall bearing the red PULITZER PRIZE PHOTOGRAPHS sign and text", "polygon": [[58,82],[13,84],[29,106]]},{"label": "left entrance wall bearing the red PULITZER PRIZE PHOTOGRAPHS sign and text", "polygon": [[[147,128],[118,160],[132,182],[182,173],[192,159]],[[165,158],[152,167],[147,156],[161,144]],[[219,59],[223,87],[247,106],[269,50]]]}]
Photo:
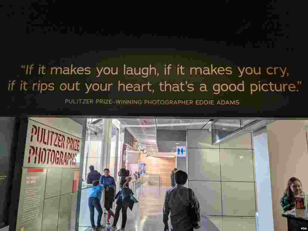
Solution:
[{"label": "left entrance wall bearing the red PULITZER PRIZE PHOTOGRAPHS sign and text", "polygon": [[27,126],[15,230],[75,230],[82,126],[67,118],[33,119]]}]

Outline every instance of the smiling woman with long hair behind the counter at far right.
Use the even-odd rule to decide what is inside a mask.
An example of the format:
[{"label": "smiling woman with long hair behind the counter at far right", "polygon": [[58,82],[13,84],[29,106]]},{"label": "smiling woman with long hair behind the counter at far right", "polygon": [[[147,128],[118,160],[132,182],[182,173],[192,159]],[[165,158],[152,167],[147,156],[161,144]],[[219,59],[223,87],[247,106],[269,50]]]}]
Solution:
[{"label": "smiling woman with long hair behind the counter at far right", "polygon": [[284,213],[294,211],[294,197],[298,196],[300,193],[303,193],[301,181],[296,177],[291,177],[287,182],[287,187],[284,191],[283,197],[280,200]]}]

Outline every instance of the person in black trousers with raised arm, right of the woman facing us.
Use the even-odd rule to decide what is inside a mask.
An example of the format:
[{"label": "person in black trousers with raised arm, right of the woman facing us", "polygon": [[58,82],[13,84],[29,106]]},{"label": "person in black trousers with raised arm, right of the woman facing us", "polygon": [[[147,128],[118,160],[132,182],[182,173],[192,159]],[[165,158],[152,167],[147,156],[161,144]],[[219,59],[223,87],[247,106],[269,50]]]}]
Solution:
[{"label": "person in black trousers with raised arm, right of the woman facing us", "polygon": [[125,229],[126,220],[127,220],[127,209],[131,203],[131,193],[132,190],[129,188],[128,183],[132,180],[132,177],[129,176],[129,170],[125,168],[120,169],[120,192],[117,193],[116,199],[116,208],[115,208],[115,217],[113,220],[113,225],[111,230],[116,229],[116,225],[119,220],[120,211],[122,209],[122,225],[121,229],[118,231],[123,231]]}]

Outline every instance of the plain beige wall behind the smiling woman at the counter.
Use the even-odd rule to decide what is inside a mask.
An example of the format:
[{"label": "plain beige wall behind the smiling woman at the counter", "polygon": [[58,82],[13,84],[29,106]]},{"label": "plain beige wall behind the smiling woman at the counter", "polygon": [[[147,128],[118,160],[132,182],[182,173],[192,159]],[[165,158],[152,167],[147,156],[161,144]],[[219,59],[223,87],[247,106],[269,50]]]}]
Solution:
[{"label": "plain beige wall behind the smiling woman at the counter", "polygon": [[267,126],[275,231],[286,231],[280,198],[287,181],[295,176],[308,192],[307,140],[304,120],[279,120]]}]

